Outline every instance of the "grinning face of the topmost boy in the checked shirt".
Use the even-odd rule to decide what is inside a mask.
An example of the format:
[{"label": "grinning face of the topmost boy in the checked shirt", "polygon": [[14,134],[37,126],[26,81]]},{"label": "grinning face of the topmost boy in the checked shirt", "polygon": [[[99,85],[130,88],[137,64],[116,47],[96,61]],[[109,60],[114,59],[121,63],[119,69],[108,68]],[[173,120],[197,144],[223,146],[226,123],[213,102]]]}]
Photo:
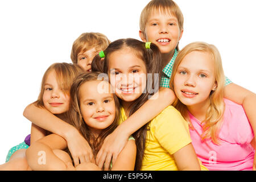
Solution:
[{"label": "grinning face of the topmost boy in the checked shirt", "polygon": [[177,18],[160,11],[152,12],[148,17],[145,32],[139,31],[142,41],[156,44],[161,53],[174,51],[182,34]]}]

